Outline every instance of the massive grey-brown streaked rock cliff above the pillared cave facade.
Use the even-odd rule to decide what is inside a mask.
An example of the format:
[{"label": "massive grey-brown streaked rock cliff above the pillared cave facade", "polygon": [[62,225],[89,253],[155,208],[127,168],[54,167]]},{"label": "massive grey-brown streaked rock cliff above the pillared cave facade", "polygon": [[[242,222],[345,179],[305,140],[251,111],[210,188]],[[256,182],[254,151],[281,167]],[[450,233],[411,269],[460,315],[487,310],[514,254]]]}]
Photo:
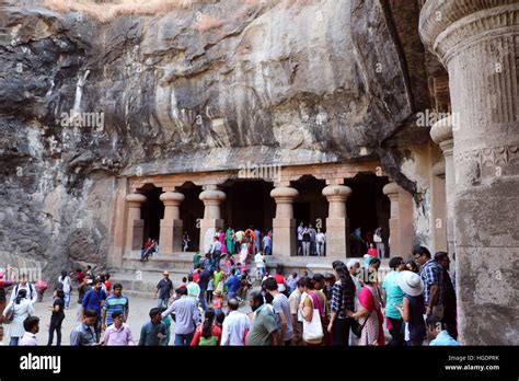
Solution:
[{"label": "massive grey-brown streaked rock cliff above the pillared cave facade", "polygon": [[408,124],[426,79],[391,7],[223,0],[100,22],[0,0],[0,247],[47,272],[103,263],[119,175],[378,155],[414,190],[391,141],[427,136]]}]

